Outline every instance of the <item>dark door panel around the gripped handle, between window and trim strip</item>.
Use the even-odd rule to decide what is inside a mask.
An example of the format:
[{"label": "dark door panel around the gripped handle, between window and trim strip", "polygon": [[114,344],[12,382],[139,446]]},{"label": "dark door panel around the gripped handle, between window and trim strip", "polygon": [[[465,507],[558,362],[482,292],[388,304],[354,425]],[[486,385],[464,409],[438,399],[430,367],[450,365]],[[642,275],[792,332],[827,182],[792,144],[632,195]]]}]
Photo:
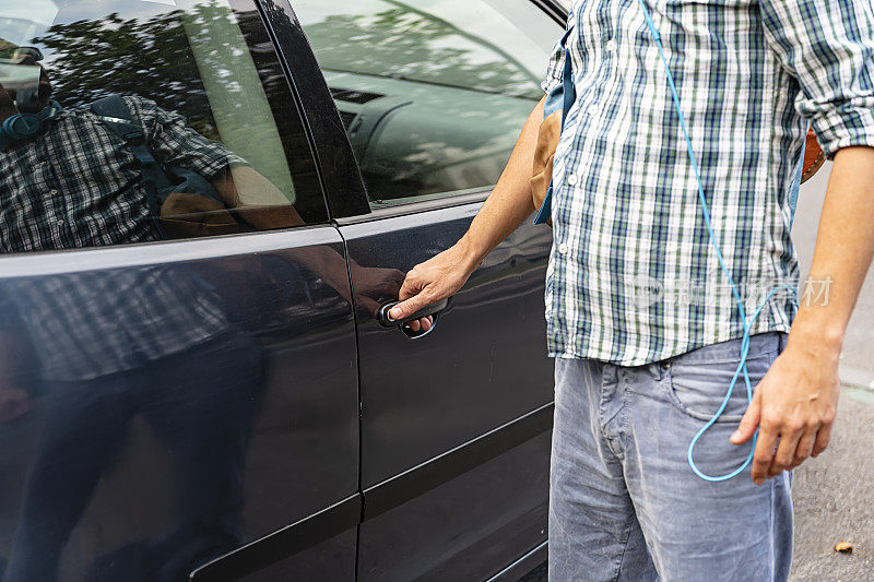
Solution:
[{"label": "dark door panel around the gripped handle, between window and trim strip", "polygon": [[[402,271],[450,247],[479,204],[341,226],[350,258]],[[552,401],[543,337],[545,227],[511,235],[411,341],[358,312],[366,489]],[[355,281],[353,278],[353,289]]]}]

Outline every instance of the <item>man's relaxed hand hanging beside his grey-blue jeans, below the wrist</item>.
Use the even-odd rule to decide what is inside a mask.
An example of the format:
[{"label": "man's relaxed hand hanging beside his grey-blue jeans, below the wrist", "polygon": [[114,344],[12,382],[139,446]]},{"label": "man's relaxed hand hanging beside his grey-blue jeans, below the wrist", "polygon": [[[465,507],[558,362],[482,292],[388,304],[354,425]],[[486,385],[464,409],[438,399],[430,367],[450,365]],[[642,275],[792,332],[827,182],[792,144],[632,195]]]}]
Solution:
[{"label": "man's relaxed hand hanging beside his grey-blue jeans, below the wrist", "polygon": [[759,429],[752,471],[757,485],[828,447],[840,394],[839,354],[822,338],[790,336],[756,387],[731,441],[742,444]]}]

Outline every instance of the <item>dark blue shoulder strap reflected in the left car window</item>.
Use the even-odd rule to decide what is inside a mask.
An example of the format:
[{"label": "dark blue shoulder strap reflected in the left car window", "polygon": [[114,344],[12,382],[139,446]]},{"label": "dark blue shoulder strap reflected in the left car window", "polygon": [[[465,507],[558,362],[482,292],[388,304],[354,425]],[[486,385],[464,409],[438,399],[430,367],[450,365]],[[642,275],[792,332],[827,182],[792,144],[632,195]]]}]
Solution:
[{"label": "dark blue shoulder strap reflected in the left car window", "polygon": [[168,180],[161,164],[145,143],[145,133],[143,133],[142,127],[120,95],[109,95],[92,103],[91,110],[107,129],[127,143],[133,157],[137,158],[143,177],[143,187],[152,221],[161,236],[166,238],[164,227],[161,225],[158,188],[161,185],[168,183]]}]

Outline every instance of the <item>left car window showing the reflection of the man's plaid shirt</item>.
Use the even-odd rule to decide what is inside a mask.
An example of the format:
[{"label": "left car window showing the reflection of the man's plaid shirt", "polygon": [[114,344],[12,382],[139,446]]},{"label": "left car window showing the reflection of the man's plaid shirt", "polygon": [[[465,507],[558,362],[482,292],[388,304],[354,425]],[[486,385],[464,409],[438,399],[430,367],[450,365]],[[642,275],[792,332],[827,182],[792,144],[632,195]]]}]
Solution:
[{"label": "left car window showing the reflection of the man's plaid shirt", "polygon": [[327,221],[253,4],[0,4],[0,251]]}]

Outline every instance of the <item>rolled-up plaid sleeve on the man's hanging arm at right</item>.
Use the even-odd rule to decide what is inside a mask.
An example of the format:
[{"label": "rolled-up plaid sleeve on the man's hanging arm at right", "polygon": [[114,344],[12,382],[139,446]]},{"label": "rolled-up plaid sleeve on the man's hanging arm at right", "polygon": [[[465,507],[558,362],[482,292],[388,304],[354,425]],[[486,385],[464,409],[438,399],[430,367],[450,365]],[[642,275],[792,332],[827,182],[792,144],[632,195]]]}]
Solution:
[{"label": "rolled-up plaid sleeve on the man's hanging arm at right", "polygon": [[871,0],[760,0],[766,38],[800,85],[799,114],[828,157],[874,147],[874,7]]}]

